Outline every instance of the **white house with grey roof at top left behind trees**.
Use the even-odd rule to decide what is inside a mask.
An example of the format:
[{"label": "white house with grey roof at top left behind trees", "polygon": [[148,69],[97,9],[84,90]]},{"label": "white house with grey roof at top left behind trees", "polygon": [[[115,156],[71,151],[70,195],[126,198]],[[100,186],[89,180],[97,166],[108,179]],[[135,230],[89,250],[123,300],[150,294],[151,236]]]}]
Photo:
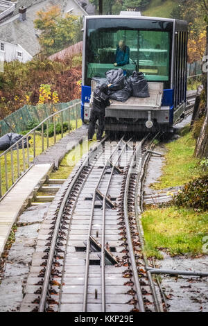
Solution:
[{"label": "white house with grey roof at top left behind trees", "polygon": [[80,17],[88,15],[76,0],[19,0],[6,17],[2,17],[1,12],[0,60],[9,62],[18,59],[27,62],[39,53],[39,33],[33,24],[36,12],[57,5],[60,6],[63,13],[69,12]]}]

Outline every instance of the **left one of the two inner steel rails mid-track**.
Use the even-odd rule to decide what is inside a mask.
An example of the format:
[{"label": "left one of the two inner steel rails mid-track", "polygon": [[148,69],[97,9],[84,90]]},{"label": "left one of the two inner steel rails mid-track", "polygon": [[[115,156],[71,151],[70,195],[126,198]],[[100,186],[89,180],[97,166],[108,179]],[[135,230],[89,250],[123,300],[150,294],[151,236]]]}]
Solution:
[{"label": "left one of the two inner steel rails mid-track", "polygon": [[120,143],[123,142],[125,145],[126,143],[123,141],[123,137],[120,139],[119,143],[117,144],[116,148],[114,149],[112,155],[110,155],[109,159],[105,162],[105,165],[103,166],[103,171],[101,173],[101,176],[97,182],[96,188],[94,190],[93,198],[92,198],[92,209],[91,209],[91,214],[90,214],[90,220],[89,220],[89,230],[88,230],[88,235],[87,235],[87,250],[86,250],[86,265],[85,265],[85,285],[84,285],[84,295],[83,295],[83,312],[87,311],[87,286],[88,286],[88,275],[89,275],[89,251],[90,251],[90,236],[92,232],[92,221],[93,221],[93,216],[94,216],[94,205],[95,205],[95,200],[96,200],[96,190],[98,189],[101,180],[103,178],[103,175],[105,173],[105,168],[107,164],[110,162],[111,157],[114,155],[116,152],[117,148],[120,146]]}]

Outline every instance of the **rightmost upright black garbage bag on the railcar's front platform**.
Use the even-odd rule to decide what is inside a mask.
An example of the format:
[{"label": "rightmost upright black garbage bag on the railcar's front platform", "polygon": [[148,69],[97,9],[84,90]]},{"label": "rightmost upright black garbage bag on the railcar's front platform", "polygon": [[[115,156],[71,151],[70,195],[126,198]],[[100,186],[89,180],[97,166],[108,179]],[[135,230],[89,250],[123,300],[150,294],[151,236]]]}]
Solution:
[{"label": "rightmost upright black garbage bag on the railcar's front platform", "polygon": [[135,97],[150,97],[148,92],[148,82],[144,78],[142,72],[134,71],[132,76],[128,78],[128,81],[132,85],[132,96]]}]

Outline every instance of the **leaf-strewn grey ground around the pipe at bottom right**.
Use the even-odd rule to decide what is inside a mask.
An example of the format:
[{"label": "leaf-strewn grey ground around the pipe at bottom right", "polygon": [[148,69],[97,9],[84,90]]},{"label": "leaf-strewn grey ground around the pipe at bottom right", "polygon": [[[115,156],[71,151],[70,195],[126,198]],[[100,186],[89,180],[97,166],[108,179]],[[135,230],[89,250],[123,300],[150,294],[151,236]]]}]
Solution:
[{"label": "leaf-strewn grey ground around the pipe at bottom right", "polygon": [[[159,261],[162,269],[208,271],[208,257],[169,257]],[[208,277],[162,275],[161,285],[170,312],[208,312]]]}]

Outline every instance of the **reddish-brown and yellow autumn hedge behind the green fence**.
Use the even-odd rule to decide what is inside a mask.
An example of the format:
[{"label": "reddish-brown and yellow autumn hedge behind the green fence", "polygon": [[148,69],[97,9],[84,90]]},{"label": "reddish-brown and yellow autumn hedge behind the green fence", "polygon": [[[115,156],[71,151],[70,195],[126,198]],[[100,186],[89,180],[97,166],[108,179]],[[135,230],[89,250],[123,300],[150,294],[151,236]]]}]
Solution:
[{"label": "reddish-brown and yellow autumn hedge behind the green fence", "polygon": [[[80,98],[81,65],[33,59],[6,62],[0,79],[0,119],[25,104],[69,102]],[[78,62],[77,62],[78,63]]]}]

